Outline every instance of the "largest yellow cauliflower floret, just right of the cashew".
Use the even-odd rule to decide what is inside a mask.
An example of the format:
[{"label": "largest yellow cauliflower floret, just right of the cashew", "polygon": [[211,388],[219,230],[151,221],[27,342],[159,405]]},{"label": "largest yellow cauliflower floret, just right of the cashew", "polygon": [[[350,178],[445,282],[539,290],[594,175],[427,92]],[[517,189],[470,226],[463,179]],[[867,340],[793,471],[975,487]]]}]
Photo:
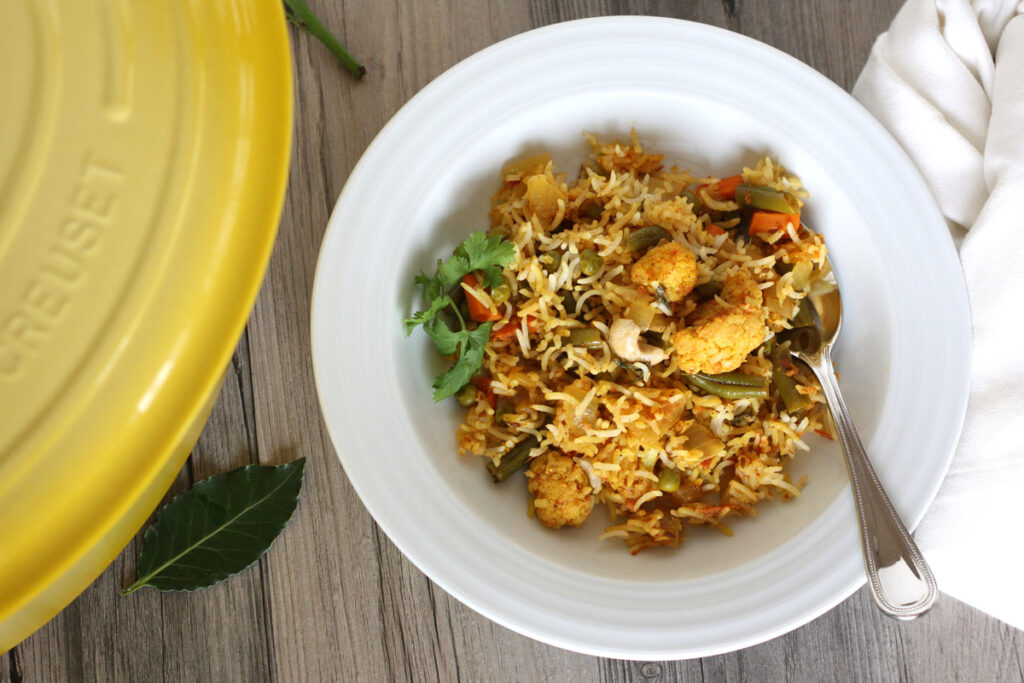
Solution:
[{"label": "largest yellow cauliflower floret, just right of the cashew", "polygon": [[698,323],[672,336],[676,364],[684,373],[728,373],[765,340],[760,313],[709,301],[697,308]]}]

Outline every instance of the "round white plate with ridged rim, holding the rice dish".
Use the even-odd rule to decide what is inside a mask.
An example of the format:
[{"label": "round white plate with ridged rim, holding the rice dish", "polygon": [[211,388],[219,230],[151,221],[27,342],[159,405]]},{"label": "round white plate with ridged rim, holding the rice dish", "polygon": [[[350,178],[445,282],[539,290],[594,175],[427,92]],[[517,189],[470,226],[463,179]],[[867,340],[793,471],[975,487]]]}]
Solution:
[{"label": "round white plate with ridged rim, holding the rice dish", "polygon": [[[527,519],[521,481],[490,483],[456,455],[442,364],[400,321],[413,276],[487,226],[500,169],[553,150],[577,164],[581,131],[628,137],[697,170],[763,154],[811,191],[846,318],[842,386],[883,481],[915,525],[945,474],[967,400],[970,321],[959,264],[925,183],[886,131],[809,67],[699,24],[610,17],[499,43],[414,97],[338,200],[312,302],[313,367],[328,428],[384,531],[464,603],[532,638],[591,654],[668,659],[782,634],[864,581],[841,455],[795,461],[804,495],[765,504],[734,538],[691,530],[679,552],[631,557],[582,529]],[[566,168],[566,166],[563,166]],[[932,311],[943,311],[936,317]]]}]

